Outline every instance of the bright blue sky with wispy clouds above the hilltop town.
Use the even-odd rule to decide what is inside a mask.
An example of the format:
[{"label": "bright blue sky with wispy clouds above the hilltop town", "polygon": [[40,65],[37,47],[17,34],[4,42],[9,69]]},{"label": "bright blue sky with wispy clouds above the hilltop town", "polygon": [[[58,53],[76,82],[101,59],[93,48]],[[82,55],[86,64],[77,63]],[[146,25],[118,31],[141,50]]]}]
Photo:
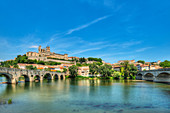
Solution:
[{"label": "bright blue sky with wispy clouds above the hilltop town", "polygon": [[170,1],[0,0],[0,61],[39,45],[110,63],[170,60]]}]

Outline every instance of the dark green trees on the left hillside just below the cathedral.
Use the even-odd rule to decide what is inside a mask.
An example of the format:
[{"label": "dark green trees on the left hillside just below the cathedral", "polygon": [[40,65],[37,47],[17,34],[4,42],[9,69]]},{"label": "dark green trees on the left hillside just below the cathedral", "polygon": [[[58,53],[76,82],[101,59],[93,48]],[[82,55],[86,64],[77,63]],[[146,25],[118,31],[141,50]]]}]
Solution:
[{"label": "dark green trees on the left hillside just below the cathedral", "polygon": [[26,55],[18,55],[17,58],[15,60],[10,60],[10,61],[4,61],[1,62],[1,67],[10,67],[10,66],[14,66],[14,68],[18,67],[18,63],[25,63],[25,64],[41,64],[41,65],[60,65],[60,62],[44,62],[44,61],[40,61],[40,60],[31,60],[28,59],[28,57]]}]

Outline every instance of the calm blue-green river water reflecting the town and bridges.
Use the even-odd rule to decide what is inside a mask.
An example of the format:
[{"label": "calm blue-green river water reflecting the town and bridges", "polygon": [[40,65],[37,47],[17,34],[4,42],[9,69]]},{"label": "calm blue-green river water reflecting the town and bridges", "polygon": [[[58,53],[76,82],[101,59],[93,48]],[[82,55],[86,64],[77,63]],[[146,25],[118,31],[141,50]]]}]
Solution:
[{"label": "calm blue-green river water reflecting the town and bridges", "polygon": [[[10,98],[12,104],[2,103]],[[0,101],[0,113],[170,113],[170,85],[70,79],[0,84]]]}]

